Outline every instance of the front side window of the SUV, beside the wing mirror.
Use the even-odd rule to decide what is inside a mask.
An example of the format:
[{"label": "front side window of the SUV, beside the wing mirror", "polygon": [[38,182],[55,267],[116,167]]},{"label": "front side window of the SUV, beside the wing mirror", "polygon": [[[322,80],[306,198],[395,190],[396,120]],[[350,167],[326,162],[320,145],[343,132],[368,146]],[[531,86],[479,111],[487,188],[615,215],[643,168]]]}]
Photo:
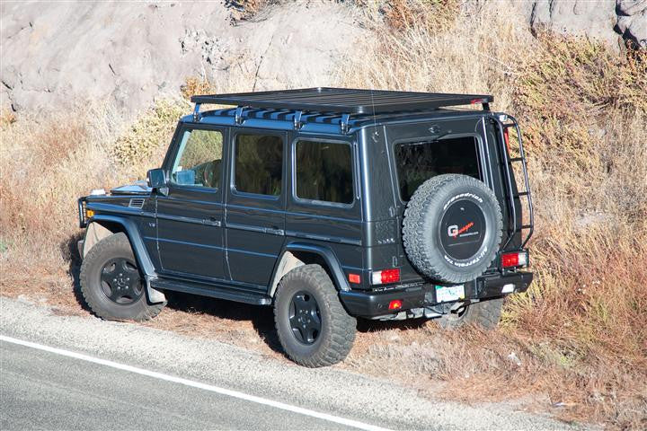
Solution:
[{"label": "front side window of the SUV, beside the wing mirror", "polygon": [[171,182],[218,189],[222,173],[223,136],[218,130],[186,130],[173,162]]}]

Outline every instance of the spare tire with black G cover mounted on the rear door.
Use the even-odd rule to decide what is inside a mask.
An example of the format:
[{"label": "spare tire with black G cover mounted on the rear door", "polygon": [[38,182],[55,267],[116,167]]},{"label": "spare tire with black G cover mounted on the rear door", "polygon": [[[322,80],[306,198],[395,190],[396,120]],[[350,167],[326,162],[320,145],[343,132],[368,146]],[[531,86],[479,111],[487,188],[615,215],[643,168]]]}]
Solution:
[{"label": "spare tire with black G cover mounted on the rear door", "polygon": [[491,189],[466,175],[426,180],[404,211],[404,250],[424,276],[464,283],[485,272],[501,244],[501,207]]}]

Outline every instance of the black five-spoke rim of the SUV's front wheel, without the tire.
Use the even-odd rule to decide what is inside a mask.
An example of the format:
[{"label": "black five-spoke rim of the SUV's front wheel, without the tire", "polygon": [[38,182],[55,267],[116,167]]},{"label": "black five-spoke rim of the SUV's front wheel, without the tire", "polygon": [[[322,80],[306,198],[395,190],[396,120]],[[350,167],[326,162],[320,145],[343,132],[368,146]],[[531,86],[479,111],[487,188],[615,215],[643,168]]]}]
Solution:
[{"label": "black five-spoke rim of the SUV's front wheel, without the tire", "polygon": [[126,258],[108,260],[101,270],[103,294],[121,305],[136,303],[144,295],[144,286],[135,262]]}]

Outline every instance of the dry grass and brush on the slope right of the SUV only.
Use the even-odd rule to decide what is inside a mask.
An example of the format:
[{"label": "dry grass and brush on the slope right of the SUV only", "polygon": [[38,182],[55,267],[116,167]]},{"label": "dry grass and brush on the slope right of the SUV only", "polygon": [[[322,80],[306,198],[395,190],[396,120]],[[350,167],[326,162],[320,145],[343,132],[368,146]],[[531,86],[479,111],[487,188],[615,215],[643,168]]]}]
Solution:
[{"label": "dry grass and brush on the slope right of the SUV only", "polygon": [[559,402],[553,411],[562,418],[645,427],[647,54],[532,38],[498,2],[476,12],[458,13],[455,31],[386,16],[392,30],[369,40],[366,57],[340,81],[492,93],[497,110],[518,116],[536,204],[536,281],[510,298],[501,330],[443,334],[428,323],[369,332],[368,349],[353,351],[350,362],[377,374],[402,370],[412,381],[440,379],[451,397],[532,393],[539,407]]}]

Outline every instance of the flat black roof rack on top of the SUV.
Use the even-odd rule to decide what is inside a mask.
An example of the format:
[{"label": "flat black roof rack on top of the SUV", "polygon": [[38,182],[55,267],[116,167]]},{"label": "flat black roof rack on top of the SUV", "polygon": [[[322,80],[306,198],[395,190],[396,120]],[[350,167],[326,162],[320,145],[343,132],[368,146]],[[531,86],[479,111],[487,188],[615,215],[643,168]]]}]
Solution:
[{"label": "flat black roof rack on top of the SUV", "polygon": [[191,101],[196,103],[196,112],[199,112],[199,104],[208,103],[246,108],[359,115],[407,110],[436,110],[442,107],[477,103],[483,105],[483,110],[490,110],[489,104],[494,101],[494,98],[487,94],[394,92],[318,87],[192,96]]}]

